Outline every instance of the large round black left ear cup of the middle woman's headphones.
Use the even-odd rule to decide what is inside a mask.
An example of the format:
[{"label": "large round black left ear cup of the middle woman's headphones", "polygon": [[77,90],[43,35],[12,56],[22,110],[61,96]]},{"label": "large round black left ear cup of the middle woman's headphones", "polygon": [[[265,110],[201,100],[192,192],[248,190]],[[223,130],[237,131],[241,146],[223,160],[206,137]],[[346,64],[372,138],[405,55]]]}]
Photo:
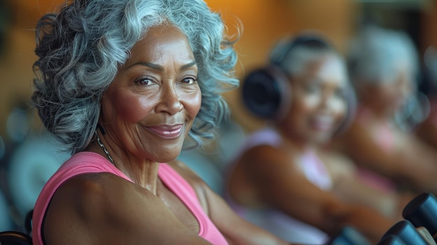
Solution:
[{"label": "large round black left ear cup of the middle woman's headphones", "polygon": [[262,119],[278,119],[290,104],[288,78],[275,66],[253,70],[242,84],[244,105]]}]

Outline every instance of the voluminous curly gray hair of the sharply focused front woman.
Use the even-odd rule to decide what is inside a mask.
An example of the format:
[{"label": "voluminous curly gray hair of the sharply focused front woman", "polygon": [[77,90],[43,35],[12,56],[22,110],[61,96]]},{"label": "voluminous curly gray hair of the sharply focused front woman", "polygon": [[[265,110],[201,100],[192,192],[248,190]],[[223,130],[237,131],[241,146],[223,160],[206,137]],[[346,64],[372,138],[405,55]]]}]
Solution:
[{"label": "voluminous curly gray hair of the sharply focused front woman", "polygon": [[87,147],[101,97],[131,48],[150,27],[172,24],[184,33],[198,64],[202,105],[189,132],[194,146],[214,138],[228,117],[221,93],[238,86],[235,40],[225,36],[218,13],[202,0],[75,0],[36,25],[36,91],[32,102],[61,149]]}]

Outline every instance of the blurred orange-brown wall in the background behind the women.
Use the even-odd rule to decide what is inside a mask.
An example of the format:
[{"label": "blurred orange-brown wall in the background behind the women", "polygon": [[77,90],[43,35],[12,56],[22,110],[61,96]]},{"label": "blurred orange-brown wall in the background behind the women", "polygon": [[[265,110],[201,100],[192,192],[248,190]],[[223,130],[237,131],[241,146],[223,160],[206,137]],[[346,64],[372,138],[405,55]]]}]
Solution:
[{"label": "blurred orange-brown wall in the background behind the women", "polygon": [[[40,15],[54,10],[63,0],[6,0],[12,11],[6,38],[6,52],[0,56],[0,133],[6,135],[6,117],[18,101],[29,100],[32,92],[34,25]],[[207,0],[208,5],[222,13],[229,33],[242,30],[237,45],[240,64],[237,75],[265,64],[272,45],[286,34],[300,29],[320,29],[332,36],[342,47],[350,35],[356,6],[350,0]],[[259,125],[244,109],[238,91],[226,94],[235,119],[247,128]],[[34,117],[34,127],[40,126]]]}]

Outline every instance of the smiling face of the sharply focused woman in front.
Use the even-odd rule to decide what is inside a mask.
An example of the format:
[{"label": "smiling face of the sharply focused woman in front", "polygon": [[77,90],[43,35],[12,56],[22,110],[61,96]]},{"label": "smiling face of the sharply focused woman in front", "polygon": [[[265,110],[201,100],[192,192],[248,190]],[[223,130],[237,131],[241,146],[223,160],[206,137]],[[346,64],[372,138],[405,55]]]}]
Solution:
[{"label": "smiling face of the sharply focused woman in front", "polygon": [[101,125],[128,156],[175,159],[200,110],[198,67],[188,40],[172,26],[152,27],[102,98]]}]

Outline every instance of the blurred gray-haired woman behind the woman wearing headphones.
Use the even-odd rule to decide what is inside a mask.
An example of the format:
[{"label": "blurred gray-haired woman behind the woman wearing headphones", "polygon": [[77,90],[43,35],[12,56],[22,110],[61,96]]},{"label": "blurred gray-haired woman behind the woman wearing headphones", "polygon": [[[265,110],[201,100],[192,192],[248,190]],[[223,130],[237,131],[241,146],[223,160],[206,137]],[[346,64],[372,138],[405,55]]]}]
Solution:
[{"label": "blurred gray-haired woman behind the woman wearing headphones", "polygon": [[437,154],[410,131],[426,117],[416,99],[420,63],[413,41],[401,31],[366,27],[353,40],[349,61],[357,115],[334,145],[382,190],[437,193]]}]

